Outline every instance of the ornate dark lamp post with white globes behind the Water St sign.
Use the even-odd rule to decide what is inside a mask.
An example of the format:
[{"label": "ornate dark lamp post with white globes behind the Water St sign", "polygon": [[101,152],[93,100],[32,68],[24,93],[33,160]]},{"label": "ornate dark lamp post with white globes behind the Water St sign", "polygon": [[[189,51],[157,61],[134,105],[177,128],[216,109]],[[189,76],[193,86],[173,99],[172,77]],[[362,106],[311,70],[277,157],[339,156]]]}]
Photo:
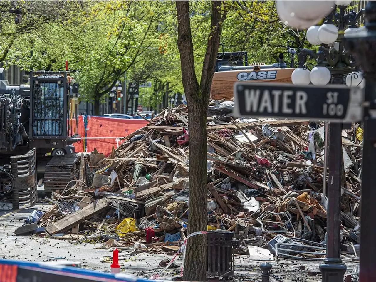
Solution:
[{"label": "ornate dark lamp post with white globes behind the Water St sign", "polygon": [[[284,5],[284,2],[279,1],[279,5]],[[358,86],[363,88],[365,82],[363,75],[359,71],[359,62],[344,48],[343,39],[350,35],[359,35],[364,33],[364,27],[356,27],[359,18],[364,14],[362,9],[358,13],[354,11],[346,12],[347,5],[351,1],[320,1],[318,4],[315,1],[294,1],[294,3],[301,3],[305,6],[318,6],[314,11],[317,17],[326,16],[321,26],[311,26],[308,28],[306,37],[307,40],[313,44],[318,45],[318,51],[315,52],[309,49],[302,49],[298,54],[299,66],[293,71],[291,80],[297,85],[308,85],[312,83],[317,86],[324,86],[328,83],[344,84],[348,86]],[[320,8],[321,2],[324,2],[322,12],[317,10]],[[331,4],[330,4],[331,2]],[[278,3],[278,1],[277,1]],[[299,10],[299,5],[291,5],[287,3],[284,6],[290,7],[295,11],[288,13],[280,13],[280,17],[287,20],[293,27],[307,28],[310,24],[315,24],[320,21],[305,20],[303,17],[309,8]],[[327,5],[332,5],[332,11],[328,12]],[[277,4],[278,9],[278,4]],[[284,10],[282,9],[282,10]],[[280,12],[280,11],[279,11]],[[283,11],[282,11],[283,12]],[[288,18],[290,16],[290,18]],[[300,18],[299,18],[300,16]],[[297,19],[300,21],[297,22]],[[316,65],[309,71],[306,68],[306,59],[310,57],[315,59]],[[326,124],[327,126],[327,124]],[[326,258],[323,264],[320,265],[323,282],[343,282],[343,276],[346,271],[340,258],[340,226],[341,226],[341,168],[342,163],[342,140],[341,140],[342,124],[332,123],[329,127],[330,144],[329,144],[329,181],[328,181],[328,204],[327,204],[327,244],[326,244]],[[325,138],[327,142],[328,138]],[[326,182],[326,177],[324,179]],[[362,196],[364,199],[364,195]],[[362,209],[363,210],[363,209]]]}]

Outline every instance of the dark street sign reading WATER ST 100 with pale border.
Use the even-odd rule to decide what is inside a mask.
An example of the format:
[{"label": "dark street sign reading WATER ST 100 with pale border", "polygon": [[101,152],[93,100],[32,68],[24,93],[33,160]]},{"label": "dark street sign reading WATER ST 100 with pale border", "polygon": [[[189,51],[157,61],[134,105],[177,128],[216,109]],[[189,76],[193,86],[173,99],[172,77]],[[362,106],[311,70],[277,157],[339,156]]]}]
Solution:
[{"label": "dark street sign reading WATER ST 100 with pale border", "polygon": [[364,91],[344,85],[235,83],[235,117],[304,118],[334,122],[363,119]]}]

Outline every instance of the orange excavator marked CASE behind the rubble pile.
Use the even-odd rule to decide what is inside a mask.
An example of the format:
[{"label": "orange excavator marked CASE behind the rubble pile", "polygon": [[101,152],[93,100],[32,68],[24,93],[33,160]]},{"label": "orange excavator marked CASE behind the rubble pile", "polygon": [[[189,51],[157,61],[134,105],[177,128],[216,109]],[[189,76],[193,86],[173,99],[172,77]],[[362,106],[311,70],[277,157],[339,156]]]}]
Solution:
[{"label": "orange excavator marked CASE behind the rubble pile", "polygon": [[215,69],[210,91],[214,100],[231,100],[235,82],[292,83],[291,73],[295,70],[287,67],[283,53],[277,63],[248,65],[247,52],[218,53]]}]

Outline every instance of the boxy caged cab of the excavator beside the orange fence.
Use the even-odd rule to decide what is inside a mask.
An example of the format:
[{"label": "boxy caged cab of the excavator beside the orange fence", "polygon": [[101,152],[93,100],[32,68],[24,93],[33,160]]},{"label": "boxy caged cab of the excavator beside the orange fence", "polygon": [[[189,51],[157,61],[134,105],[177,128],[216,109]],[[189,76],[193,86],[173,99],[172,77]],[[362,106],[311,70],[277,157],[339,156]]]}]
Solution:
[{"label": "boxy caged cab of the excavator beside the orange fence", "polygon": [[67,71],[30,72],[30,147],[64,148],[77,141],[77,130],[71,130],[77,122],[71,92]]}]

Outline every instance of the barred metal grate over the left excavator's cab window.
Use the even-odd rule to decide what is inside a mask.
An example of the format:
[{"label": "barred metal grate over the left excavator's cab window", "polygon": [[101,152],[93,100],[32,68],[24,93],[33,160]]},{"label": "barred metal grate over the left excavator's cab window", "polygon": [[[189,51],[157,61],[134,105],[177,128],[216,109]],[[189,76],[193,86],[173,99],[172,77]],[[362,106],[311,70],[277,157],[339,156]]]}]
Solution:
[{"label": "barred metal grate over the left excavator's cab window", "polygon": [[40,81],[33,87],[33,135],[63,136],[64,86]]}]

